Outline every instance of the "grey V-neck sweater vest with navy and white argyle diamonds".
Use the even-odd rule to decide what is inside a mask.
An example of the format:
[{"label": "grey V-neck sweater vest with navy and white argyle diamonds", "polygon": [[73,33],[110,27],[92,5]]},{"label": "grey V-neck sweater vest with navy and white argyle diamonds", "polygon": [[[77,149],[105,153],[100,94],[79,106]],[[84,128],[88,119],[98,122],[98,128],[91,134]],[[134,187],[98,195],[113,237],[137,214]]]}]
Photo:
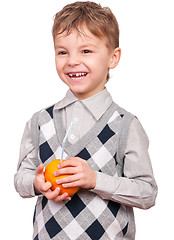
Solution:
[{"label": "grey V-neck sweater vest with navy and white argyle diamonds", "polygon": [[[39,161],[46,166],[61,157],[65,129],[61,110],[38,112],[32,122]],[[115,103],[75,144],[65,144],[64,158],[77,156],[89,166],[113,177],[123,176],[123,157],[133,116]],[[71,201],[53,202],[39,196],[34,213],[34,240],[133,240],[133,209],[80,189]]]}]

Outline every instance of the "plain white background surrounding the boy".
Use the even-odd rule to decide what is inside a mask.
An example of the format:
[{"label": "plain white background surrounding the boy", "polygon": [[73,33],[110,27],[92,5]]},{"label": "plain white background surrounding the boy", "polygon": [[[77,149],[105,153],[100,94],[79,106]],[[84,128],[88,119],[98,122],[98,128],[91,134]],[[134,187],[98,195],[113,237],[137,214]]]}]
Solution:
[{"label": "plain white background surrounding the boy", "polygon": [[[120,25],[122,58],[107,87],[134,113],[150,139],[159,187],[156,206],[135,209],[136,240],[171,239],[173,232],[173,1],[98,0]],[[13,177],[26,121],[60,100],[67,90],[57,76],[51,36],[53,16],[64,0],[0,3],[1,236],[29,240],[36,199],[22,199]],[[4,211],[3,211],[4,210]]]}]

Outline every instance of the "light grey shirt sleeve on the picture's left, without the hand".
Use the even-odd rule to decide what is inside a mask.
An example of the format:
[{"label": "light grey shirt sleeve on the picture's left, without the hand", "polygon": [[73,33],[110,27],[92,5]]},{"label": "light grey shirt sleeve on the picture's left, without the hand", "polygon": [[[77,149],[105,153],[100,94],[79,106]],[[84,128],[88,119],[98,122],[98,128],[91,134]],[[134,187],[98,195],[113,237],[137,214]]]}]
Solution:
[{"label": "light grey shirt sleeve on the picture's left, without the hand", "polygon": [[26,124],[21,141],[21,149],[14,185],[20,196],[34,197],[33,181],[36,171],[37,153],[31,138],[31,121]]}]

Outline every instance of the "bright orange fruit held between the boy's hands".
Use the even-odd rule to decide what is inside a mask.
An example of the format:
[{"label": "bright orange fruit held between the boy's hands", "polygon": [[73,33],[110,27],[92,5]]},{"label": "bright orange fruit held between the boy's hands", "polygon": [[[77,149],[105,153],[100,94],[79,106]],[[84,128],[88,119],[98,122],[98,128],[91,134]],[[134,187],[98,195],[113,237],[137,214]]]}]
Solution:
[{"label": "bright orange fruit held between the boy's hands", "polygon": [[[66,161],[66,160],[63,160],[63,161]],[[61,184],[56,183],[56,179],[70,176],[70,175],[60,175],[58,177],[54,176],[54,172],[59,169],[58,165],[60,162],[61,162],[60,159],[55,159],[45,167],[45,181],[49,181],[52,184],[51,186],[52,190],[55,190],[57,187],[60,187],[61,189],[60,194],[63,194],[66,192],[69,194],[69,196],[72,196],[79,190],[79,187],[64,188],[62,187]]]}]

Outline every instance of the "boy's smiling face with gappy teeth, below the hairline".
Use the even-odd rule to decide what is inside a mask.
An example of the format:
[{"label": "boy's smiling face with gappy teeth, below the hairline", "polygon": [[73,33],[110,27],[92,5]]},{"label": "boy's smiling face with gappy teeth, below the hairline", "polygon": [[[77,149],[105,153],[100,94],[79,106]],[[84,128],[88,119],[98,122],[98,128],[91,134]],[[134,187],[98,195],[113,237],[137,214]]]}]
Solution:
[{"label": "boy's smiling face with gappy teeth, below the hairline", "polygon": [[69,35],[62,33],[55,37],[57,73],[79,99],[102,91],[108,70],[118,64],[116,58],[119,61],[115,50],[109,51],[104,40],[85,27],[83,33],[73,29]]}]

